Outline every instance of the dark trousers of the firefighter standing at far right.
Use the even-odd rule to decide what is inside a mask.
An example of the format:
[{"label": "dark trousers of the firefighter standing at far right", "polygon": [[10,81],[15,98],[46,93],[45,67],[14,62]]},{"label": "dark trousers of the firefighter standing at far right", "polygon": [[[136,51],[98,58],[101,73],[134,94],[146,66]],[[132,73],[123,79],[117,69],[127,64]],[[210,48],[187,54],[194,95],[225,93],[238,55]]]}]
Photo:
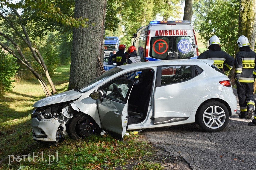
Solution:
[{"label": "dark trousers of the firefighter standing at far right", "polygon": [[247,109],[252,108],[254,110],[255,99],[253,95],[253,82],[241,83],[241,86],[237,85],[237,96],[240,107],[240,114],[247,115]]}]

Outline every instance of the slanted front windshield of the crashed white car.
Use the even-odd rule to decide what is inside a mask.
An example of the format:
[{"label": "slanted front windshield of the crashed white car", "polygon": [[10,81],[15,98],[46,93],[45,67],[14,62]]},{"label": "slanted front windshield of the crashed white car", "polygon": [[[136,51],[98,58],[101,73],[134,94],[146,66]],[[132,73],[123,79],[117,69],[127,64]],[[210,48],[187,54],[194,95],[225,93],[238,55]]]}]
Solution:
[{"label": "slanted front windshield of the crashed white car", "polygon": [[94,88],[96,85],[98,85],[99,83],[101,83],[102,81],[104,81],[105,79],[113,76],[114,74],[122,71],[122,68],[119,67],[115,67],[110,69],[109,71],[107,71],[106,73],[100,75],[98,78],[94,79],[92,82],[90,82],[89,84],[87,84],[86,86],[84,86],[83,88],[80,89],[80,91],[82,93],[85,93],[89,90],[91,90],[92,88]]}]

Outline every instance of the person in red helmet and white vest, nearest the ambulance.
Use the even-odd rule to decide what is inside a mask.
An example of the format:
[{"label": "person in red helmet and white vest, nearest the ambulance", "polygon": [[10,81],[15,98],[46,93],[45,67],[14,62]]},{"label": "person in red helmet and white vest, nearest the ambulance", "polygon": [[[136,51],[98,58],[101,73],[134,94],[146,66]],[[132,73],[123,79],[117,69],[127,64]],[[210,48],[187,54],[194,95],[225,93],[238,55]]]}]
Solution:
[{"label": "person in red helmet and white vest, nearest the ambulance", "polygon": [[[137,50],[136,50],[136,48],[134,46],[130,46],[128,48],[127,54],[128,54],[127,64],[140,63],[140,56],[138,56]],[[125,78],[137,79],[137,78],[139,78],[140,74],[141,74],[141,71],[131,72],[131,73],[126,74]]]}]

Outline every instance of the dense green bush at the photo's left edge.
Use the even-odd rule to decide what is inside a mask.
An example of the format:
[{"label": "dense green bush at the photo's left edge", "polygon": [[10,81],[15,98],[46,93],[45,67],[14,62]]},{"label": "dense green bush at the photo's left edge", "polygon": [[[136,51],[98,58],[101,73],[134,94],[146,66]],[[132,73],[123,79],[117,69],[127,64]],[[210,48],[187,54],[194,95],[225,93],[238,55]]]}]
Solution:
[{"label": "dense green bush at the photo's left edge", "polygon": [[14,76],[17,71],[16,60],[0,50],[0,94],[13,88]]}]

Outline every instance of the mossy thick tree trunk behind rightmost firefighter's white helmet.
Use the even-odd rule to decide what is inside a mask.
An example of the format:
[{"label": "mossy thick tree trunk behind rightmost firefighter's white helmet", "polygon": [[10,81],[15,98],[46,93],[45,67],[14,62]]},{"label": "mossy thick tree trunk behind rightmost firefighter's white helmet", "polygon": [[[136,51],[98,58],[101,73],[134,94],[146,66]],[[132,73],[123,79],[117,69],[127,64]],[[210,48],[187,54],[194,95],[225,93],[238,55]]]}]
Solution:
[{"label": "mossy thick tree trunk behind rightmost firefighter's white helmet", "polygon": [[238,25],[238,37],[248,38],[250,48],[254,50],[256,40],[256,0],[241,0]]}]

